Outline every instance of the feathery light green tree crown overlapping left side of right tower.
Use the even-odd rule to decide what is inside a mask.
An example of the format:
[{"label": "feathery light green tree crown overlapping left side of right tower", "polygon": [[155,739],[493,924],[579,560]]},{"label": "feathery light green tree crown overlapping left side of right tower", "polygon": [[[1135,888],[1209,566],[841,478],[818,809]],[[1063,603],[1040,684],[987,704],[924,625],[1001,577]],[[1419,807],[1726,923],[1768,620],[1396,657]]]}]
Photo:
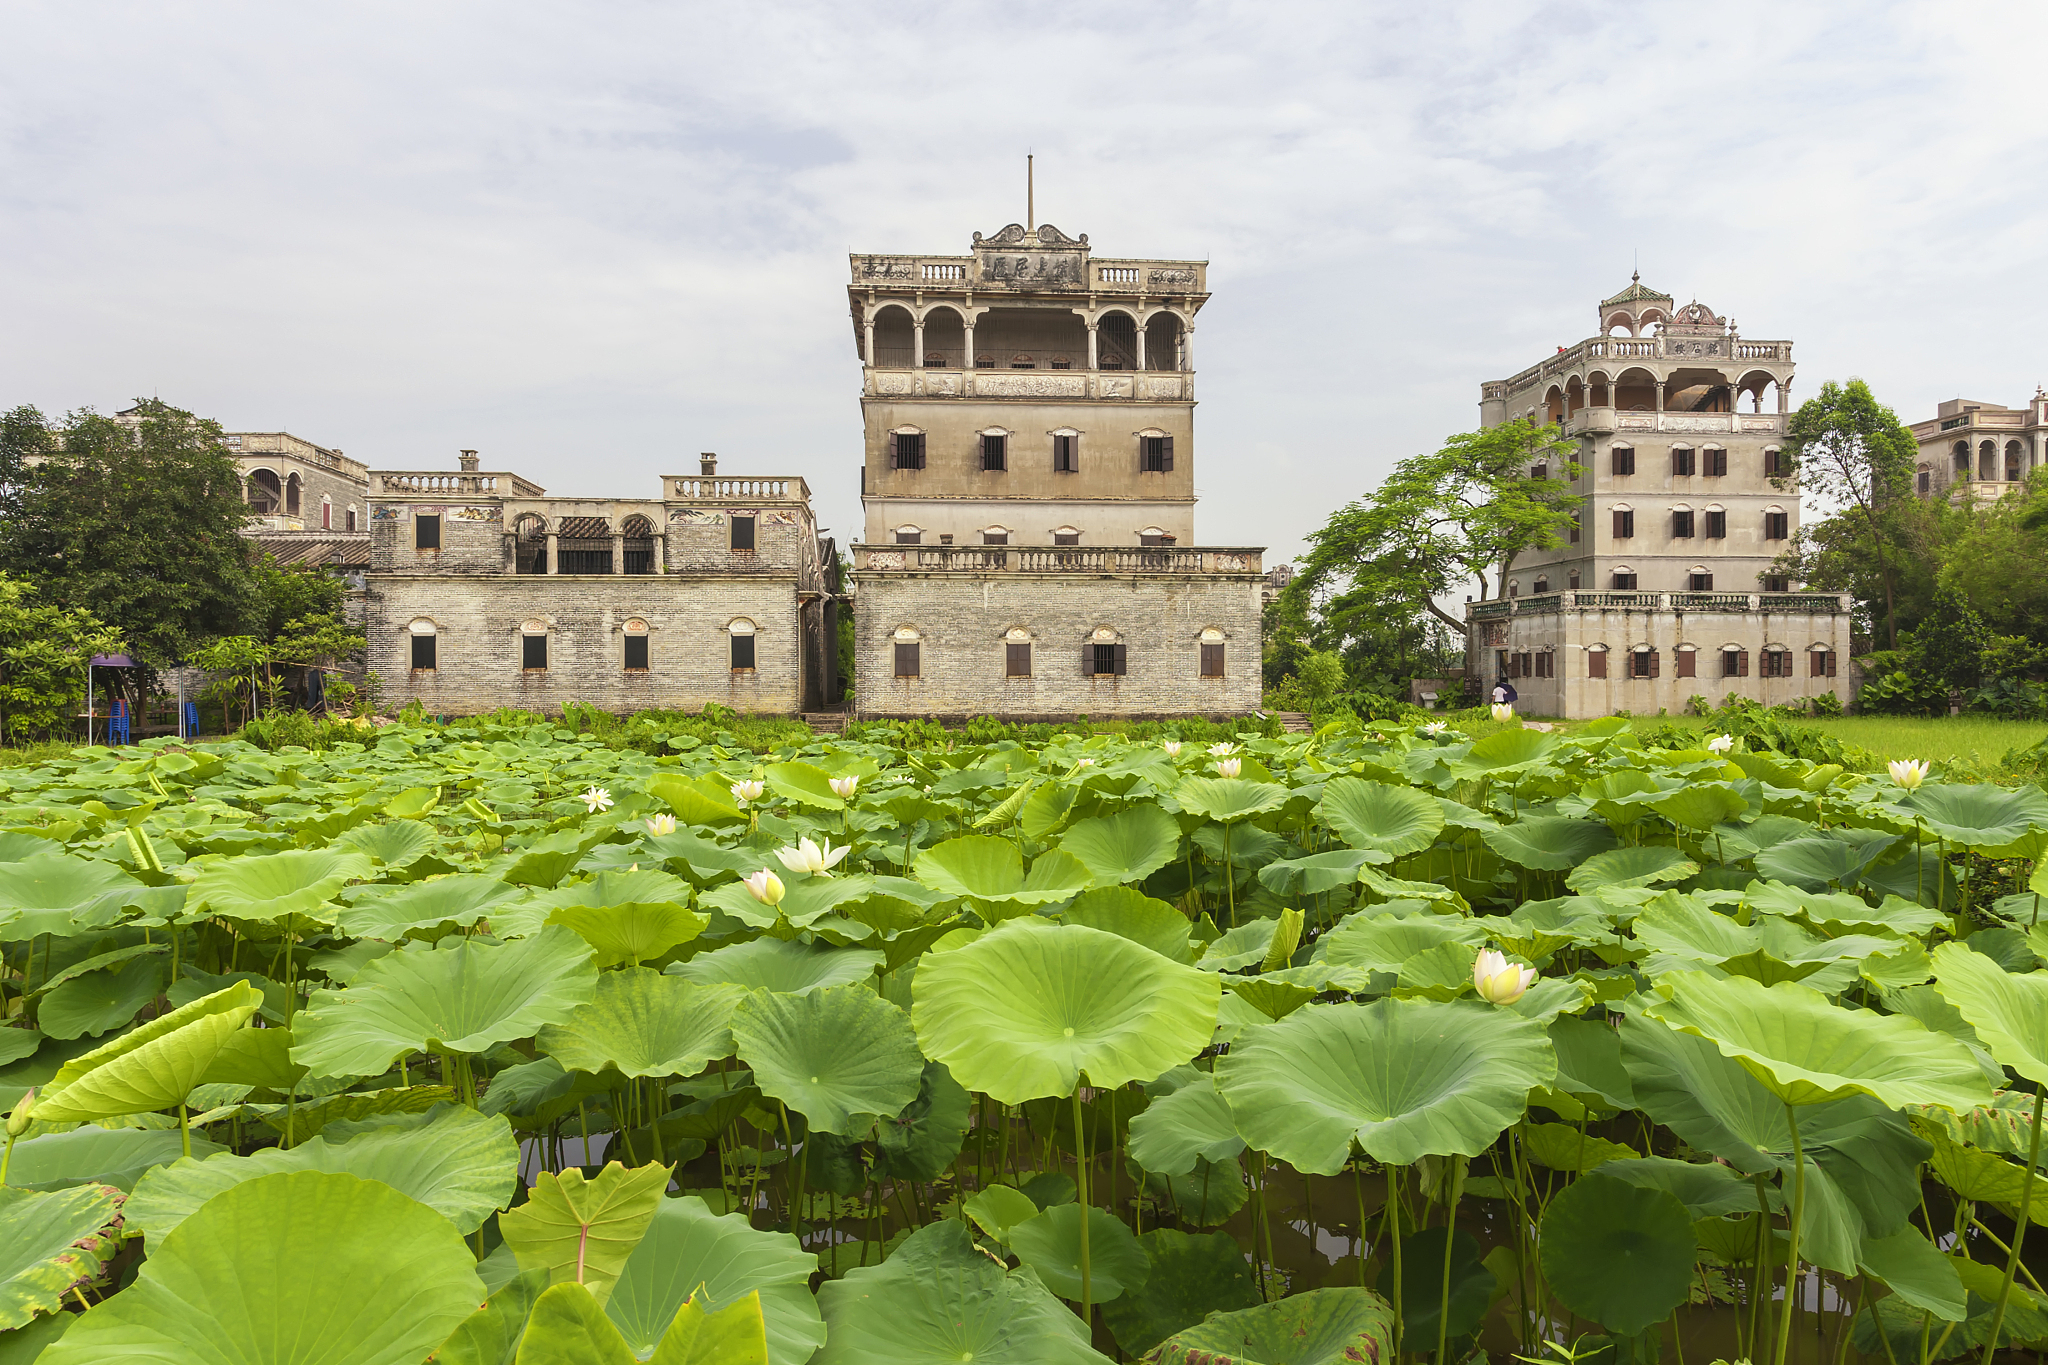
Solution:
[{"label": "feathery light green tree crown overlapping left side of right tower", "polygon": [[1309,534],[1309,557],[1286,591],[1317,604],[1339,630],[1421,610],[1468,639],[1466,622],[1436,598],[1466,581],[1479,583],[1481,600],[1497,598],[1522,553],[1565,542],[1585,501],[1571,487],[1583,473],[1575,450],[1554,426],[1518,420],[1405,458],[1372,497],[1346,503]]}]

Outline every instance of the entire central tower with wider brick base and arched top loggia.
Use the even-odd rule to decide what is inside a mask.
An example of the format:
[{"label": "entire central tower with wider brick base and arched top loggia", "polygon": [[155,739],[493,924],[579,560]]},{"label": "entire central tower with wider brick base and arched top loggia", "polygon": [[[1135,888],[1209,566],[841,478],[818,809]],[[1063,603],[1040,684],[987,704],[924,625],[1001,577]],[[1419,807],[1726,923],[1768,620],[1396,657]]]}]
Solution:
[{"label": "entire central tower with wider brick base and arched top loggia", "polygon": [[1206,264],[1051,225],[854,256],[862,716],[1245,714],[1260,548],[1194,540]]}]

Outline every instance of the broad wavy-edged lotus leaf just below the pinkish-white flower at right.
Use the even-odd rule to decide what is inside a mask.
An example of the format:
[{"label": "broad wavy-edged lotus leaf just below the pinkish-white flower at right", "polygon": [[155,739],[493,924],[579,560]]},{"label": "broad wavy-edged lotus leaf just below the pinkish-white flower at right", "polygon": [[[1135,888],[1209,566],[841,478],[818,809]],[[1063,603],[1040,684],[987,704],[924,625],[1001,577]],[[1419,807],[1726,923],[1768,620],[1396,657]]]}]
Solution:
[{"label": "broad wavy-edged lotus leaf just below the pinkish-white flower at right", "polygon": [[1217,1089],[1245,1142],[1296,1171],[1477,1156],[1556,1076],[1542,1025],[1479,1003],[1315,1005],[1239,1036]]}]

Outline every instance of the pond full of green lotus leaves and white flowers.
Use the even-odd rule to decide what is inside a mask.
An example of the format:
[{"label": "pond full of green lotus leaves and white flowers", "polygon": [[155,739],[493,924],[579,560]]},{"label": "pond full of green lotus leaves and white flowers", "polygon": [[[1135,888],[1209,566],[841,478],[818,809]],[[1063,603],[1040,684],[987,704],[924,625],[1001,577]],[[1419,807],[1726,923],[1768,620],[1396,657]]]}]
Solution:
[{"label": "pond full of green lotus leaves and white flowers", "polygon": [[2048,796],[1624,720],[0,772],[0,1365],[2048,1342]]}]

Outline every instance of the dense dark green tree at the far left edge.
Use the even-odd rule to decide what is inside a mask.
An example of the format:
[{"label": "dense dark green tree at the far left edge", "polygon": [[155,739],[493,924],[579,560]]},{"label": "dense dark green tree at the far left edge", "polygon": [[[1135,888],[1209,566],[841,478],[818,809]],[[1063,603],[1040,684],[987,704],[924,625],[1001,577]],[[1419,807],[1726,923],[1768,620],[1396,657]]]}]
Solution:
[{"label": "dense dark green tree at the far left edge", "polygon": [[0,417],[0,571],[106,620],[152,667],[246,628],[246,518],[215,422],[156,399],[133,417]]}]

